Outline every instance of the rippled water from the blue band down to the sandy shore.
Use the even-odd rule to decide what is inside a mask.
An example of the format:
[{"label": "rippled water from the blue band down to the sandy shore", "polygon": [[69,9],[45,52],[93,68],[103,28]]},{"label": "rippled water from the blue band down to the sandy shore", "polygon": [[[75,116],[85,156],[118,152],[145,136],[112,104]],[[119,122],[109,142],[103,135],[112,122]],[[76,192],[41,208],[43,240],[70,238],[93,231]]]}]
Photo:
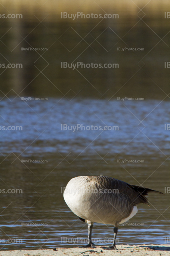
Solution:
[{"label": "rippled water from the blue band down to the sandy shore", "polygon": [[[80,245],[80,237],[87,238],[87,224],[70,212],[61,193],[61,187],[75,176],[101,174],[164,192],[169,187],[169,131],[164,130],[164,124],[169,123],[170,103],[159,103],[54,98],[25,103],[19,97],[1,100],[0,125],[23,127],[22,131],[0,131],[0,188],[23,190],[22,194],[0,193],[0,237],[23,239],[22,243],[8,244],[1,240],[1,248],[73,246],[71,242],[61,243],[65,239],[61,237],[78,239],[75,241]],[[61,131],[61,124],[115,125],[119,131]],[[144,163],[117,162],[125,159]],[[168,195],[150,194],[150,207],[140,204],[130,220],[144,226],[120,227],[118,243],[164,243],[169,235]],[[26,227],[23,222],[47,226]],[[93,237],[99,240],[96,244],[102,244],[113,237],[113,228],[95,223]]]}]

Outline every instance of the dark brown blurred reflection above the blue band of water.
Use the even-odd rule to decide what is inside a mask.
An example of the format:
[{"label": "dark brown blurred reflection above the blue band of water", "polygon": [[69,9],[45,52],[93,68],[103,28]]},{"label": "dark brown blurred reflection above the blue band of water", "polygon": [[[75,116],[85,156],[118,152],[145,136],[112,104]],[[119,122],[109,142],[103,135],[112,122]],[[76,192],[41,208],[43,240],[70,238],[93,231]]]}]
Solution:
[{"label": "dark brown blurred reflection above the blue band of water", "polygon": [[[164,62],[169,61],[170,51],[169,20],[164,18],[163,6],[157,12],[148,6],[142,20],[138,8],[124,10],[114,5],[105,10],[119,13],[119,19],[73,21],[50,13],[40,23],[34,9],[22,12],[23,19],[7,19],[0,31],[0,63],[22,63],[23,68],[0,68],[1,95],[163,100],[169,93],[169,69]],[[48,50],[21,50],[29,47]],[[144,51],[117,50],[125,47]],[[61,62],[78,61],[102,66],[118,63],[119,68],[61,68]]]}]

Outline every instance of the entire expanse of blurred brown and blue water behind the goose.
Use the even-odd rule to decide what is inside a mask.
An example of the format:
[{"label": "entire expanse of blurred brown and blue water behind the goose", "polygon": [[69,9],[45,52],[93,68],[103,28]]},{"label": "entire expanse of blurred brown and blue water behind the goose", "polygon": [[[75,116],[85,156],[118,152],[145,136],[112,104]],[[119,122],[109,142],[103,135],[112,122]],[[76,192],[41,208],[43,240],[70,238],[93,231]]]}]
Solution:
[{"label": "entire expanse of blurred brown and blue water behind the goose", "polygon": [[[61,12],[119,17],[73,20]],[[105,175],[167,191],[167,12],[166,0],[0,1],[1,250],[73,247],[71,239],[82,245],[87,224],[69,210],[61,189],[73,177]],[[125,47],[144,50],[118,50]],[[78,61],[118,68],[61,68],[61,62]],[[119,129],[73,132],[61,124]],[[118,244],[170,241],[169,194],[148,200],[150,207],[138,206],[133,226],[119,228]],[[93,238],[96,245],[110,244],[113,227],[95,223]]]}]

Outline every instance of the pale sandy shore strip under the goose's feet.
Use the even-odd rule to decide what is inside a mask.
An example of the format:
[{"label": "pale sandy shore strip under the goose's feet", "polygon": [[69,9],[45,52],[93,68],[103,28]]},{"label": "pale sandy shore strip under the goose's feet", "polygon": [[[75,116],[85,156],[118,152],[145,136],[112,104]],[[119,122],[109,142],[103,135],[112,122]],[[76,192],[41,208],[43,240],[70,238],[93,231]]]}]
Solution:
[{"label": "pale sandy shore strip under the goose's feet", "polygon": [[164,256],[170,255],[170,245],[167,244],[141,244],[141,245],[117,245],[117,251],[104,250],[101,247],[94,249],[86,248],[56,248],[49,250],[15,250],[15,251],[0,251],[0,256]]}]

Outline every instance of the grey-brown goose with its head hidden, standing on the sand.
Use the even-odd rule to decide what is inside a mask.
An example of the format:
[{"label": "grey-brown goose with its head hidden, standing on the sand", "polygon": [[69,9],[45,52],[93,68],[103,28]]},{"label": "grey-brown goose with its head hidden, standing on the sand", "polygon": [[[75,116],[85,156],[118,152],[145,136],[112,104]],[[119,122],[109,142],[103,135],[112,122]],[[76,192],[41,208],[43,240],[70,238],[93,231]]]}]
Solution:
[{"label": "grey-brown goose with its head hidden, standing on the sand", "polygon": [[[116,236],[119,224],[130,220],[137,212],[137,204],[148,204],[148,192],[162,192],[130,185],[107,176],[78,176],[71,179],[63,193],[70,210],[88,224],[89,244],[81,247],[95,248],[92,243],[93,223],[114,226],[114,242],[107,250],[117,250]],[[164,195],[164,194],[163,194]]]}]

